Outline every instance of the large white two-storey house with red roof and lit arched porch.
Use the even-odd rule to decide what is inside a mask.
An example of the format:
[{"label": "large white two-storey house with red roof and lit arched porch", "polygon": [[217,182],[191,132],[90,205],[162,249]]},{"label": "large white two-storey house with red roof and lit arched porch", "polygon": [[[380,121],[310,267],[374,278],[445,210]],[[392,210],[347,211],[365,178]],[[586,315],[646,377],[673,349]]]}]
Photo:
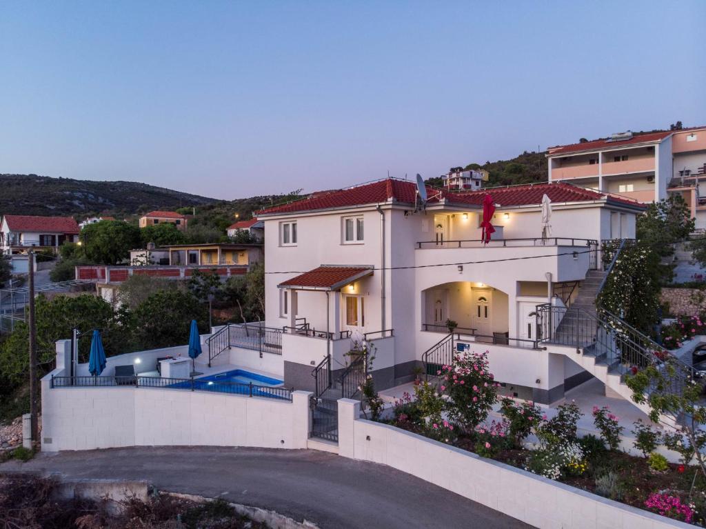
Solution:
[{"label": "large white two-storey house with red roof and lit arched porch", "polygon": [[[285,385],[315,389],[312,370],[327,356],[336,380],[362,340],[376,350],[378,389],[411,381],[430,354],[454,346],[448,320],[463,335],[458,350],[489,350],[503,393],[554,403],[590,379],[570,355],[535,348],[537,306],[592,302],[599,243],[635,237],[644,206],[564,183],[426,194],[416,208],[414,184],[385,179],[258,212],[265,324],[284,330]],[[497,208],[487,245],[486,194]],[[544,194],[553,207],[547,239]]]}]

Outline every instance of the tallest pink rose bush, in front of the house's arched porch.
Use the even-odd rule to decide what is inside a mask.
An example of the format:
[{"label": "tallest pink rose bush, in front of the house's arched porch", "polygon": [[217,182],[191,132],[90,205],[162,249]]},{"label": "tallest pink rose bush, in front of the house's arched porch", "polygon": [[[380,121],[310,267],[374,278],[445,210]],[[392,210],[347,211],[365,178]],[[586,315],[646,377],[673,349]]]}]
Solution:
[{"label": "tallest pink rose bush, in front of the house's arched porch", "polygon": [[450,397],[448,415],[465,432],[484,422],[496,401],[498,384],[488,370],[488,352],[455,355],[441,368],[441,391]]}]

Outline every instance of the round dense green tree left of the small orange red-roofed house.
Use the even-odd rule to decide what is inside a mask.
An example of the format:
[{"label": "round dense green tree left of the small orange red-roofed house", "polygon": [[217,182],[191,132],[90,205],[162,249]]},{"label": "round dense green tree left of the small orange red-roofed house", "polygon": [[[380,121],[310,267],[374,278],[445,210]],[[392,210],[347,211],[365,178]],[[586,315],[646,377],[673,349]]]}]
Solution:
[{"label": "round dense green tree left of the small orange red-roofed house", "polygon": [[142,244],[140,228],[121,220],[103,220],[81,230],[86,257],[95,263],[114,265],[130,257]]}]

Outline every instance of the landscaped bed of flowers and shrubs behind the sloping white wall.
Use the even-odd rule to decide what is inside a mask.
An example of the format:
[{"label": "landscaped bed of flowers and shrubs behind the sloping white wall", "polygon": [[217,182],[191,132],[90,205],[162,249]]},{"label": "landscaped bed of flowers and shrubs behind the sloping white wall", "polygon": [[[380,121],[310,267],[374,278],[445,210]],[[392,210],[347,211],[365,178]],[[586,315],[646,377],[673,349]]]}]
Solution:
[{"label": "landscaped bed of flowers and shrubs behind the sloping white wall", "polygon": [[[534,403],[498,397],[486,354],[457,355],[452,365],[439,366],[437,375],[437,384],[420,384],[414,396],[395,401],[394,415],[385,422],[630,506],[706,526],[706,472],[689,441],[701,443],[703,436],[662,432],[638,421],[632,432],[643,457],[630,456],[618,448],[623,427],[607,407],[592,412],[600,436],[579,437],[582,413],[574,403],[559,406],[549,419]],[[498,400],[503,418],[488,422]],[[527,446],[530,434],[538,441]],[[669,463],[657,453],[659,446],[680,453],[681,463]]]}]

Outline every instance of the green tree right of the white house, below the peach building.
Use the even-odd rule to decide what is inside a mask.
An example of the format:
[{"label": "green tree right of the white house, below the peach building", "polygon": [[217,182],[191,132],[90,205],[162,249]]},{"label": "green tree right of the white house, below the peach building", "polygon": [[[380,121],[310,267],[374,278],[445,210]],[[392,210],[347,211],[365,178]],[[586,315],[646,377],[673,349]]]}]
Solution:
[{"label": "green tree right of the white house, below the peach building", "polygon": [[674,254],[674,244],[689,237],[694,230],[694,219],[681,195],[651,203],[640,215],[635,228],[640,242],[647,244],[661,257]]}]

